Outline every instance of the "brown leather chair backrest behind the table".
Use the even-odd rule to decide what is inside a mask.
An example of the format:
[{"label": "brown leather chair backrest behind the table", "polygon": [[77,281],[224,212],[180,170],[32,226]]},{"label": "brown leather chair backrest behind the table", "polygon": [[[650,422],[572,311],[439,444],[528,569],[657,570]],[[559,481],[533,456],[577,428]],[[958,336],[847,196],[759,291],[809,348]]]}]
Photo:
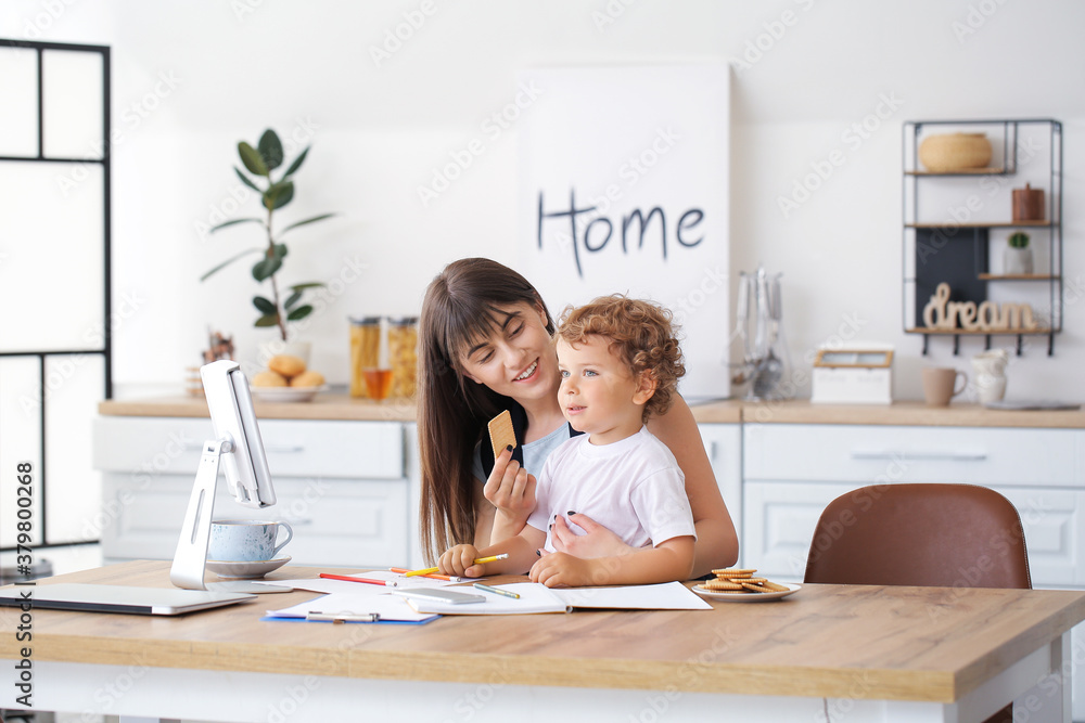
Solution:
[{"label": "brown leather chair backrest behind the table", "polygon": [[973,485],[875,485],[821,513],[806,582],[1032,588],[1017,508]]}]

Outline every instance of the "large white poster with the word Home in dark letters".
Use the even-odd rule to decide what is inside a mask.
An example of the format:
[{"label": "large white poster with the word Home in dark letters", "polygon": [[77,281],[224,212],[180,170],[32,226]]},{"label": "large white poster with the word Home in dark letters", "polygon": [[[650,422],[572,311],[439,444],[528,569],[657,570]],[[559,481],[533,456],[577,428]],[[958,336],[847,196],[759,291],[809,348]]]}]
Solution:
[{"label": "large white poster with the word Home in dark letters", "polygon": [[627,294],[681,327],[686,397],[725,397],[730,70],[538,69],[519,125],[520,269],[557,315]]}]

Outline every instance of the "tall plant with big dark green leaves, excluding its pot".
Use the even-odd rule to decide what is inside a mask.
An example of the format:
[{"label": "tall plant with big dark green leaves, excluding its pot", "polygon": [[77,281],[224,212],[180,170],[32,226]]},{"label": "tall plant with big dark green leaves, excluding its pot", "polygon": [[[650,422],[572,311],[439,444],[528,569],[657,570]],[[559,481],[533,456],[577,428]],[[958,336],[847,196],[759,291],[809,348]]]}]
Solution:
[{"label": "tall plant with big dark green leaves, excluding its pot", "polygon": [[[279,140],[279,135],[273,130],[268,129],[264,131],[264,134],[260,135],[260,140],[257,142],[256,147],[253,147],[245,141],[238,143],[238,155],[241,157],[241,163],[250,173],[257,179],[261,179],[260,184],[257,184],[254,179],[243,173],[237,166],[234,166],[234,171],[238,173],[238,178],[241,179],[242,183],[256,192],[257,198],[259,199],[265,214],[263,218],[248,217],[231,219],[225,223],[219,223],[218,225],[213,227],[210,232],[214,233],[220,229],[239,225],[241,223],[256,223],[263,227],[266,243],[261,246],[246,248],[240,254],[231,256],[200,277],[200,281],[205,281],[212,274],[233,263],[238,259],[244,258],[251,254],[258,254],[260,258],[253,264],[252,268],[253,279],[260,284],[265,282],[269,283],[271,293],[270,295],[258,294],[253,297],[253,306],[256,307],[256,311],[258,312],[255,326],[278,327],[279,338],[281,339],[279,345],[280,347],[284,346],[288,340],[286,322],[298,321],[312,313],[312,306],[304,302],[306,294],[314,288],[323,286],[320,282],[306,282],[292,284],[285,289],[280,288],[276,274],[282,269],[283,259],[285,259],[288,255],[286,244],[282,243],[282,237],[293,229],[307,225],[309,223],[316,223],[317,221],[322,221],[334,216],[334,214],[321,214],[301,221],[295,221],[281,230],[273,225],[273,222],[278,218],[276,216],[276,211],[286,206],[294,198],[293,177],[294,173],[297,172],[297,169],[302,167],[302,164],[305,162],[305,156],[308,153],[309,146],[306,146],[305,150],[303,150],[297,157],[294,158],[293,163],[291,163],[290,166],[288,166],[286,169],[279,175],[278,178],[276,178],[276,175],[273,175],[272,171],[279,169],[283,165],[285,158],[283,157],[282,143]],[[260,188],[260,185],[264,185],[265,188]]]}]

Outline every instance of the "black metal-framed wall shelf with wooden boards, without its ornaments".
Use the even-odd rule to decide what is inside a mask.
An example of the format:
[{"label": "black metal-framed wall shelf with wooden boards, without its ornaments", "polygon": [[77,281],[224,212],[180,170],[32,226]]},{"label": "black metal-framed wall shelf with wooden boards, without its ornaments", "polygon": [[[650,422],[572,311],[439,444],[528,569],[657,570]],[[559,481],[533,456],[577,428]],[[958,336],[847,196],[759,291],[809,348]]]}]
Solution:
[{"label": "black metal-framed wall shelf with wooden boards, without its ornaments", "polygon": [[[992,144],[987,167],[963,170],[926,170],[919,162],[923,140],[955,132],[983,133]],[[1055,335],[1062,331],[1062,124],[1050,119],[912,120],[904,124],[904,328],[923,335],[923,353],[932,335],[953,337],[954,353],[960,337],[980,336],[991,348],[992,336],[1047,337],[1047,353],[1055,351]],[[1012,220],[1011,186],[1031,185],[1044,191],[1038,219]],[[1027,232],[1035,273],[1011,273],[1003,263],[1007,237]],[[990,302],[986,318],[1005,304],[1027,304],[1036,317],[1031,330],[968,330],[954,321],[952,328],[932,328],[923,309],[948,284],[948,302]],[[945,304],[945,301],[943,301]],[[981,313],[980,317],[985,314]]]}]

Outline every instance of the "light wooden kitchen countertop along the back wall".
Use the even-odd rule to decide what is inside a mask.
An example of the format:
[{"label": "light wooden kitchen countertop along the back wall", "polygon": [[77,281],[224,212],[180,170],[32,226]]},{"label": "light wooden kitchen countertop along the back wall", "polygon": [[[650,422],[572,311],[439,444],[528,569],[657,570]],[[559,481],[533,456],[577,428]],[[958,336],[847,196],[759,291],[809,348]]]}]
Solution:
[{"label": "light wooden kitchen countertop along the back wall", "polygon": [[[919,401],[879,404],[812,404],[809,400],[744,402],[724,400],[693,405],[693,417],[702,424],[864,424],[932,427],[1034,427],[1085,428],[1085,412],[988,410],[978,404],[927,406]],[[206,417],[202,397],[162,397],[107,400],[100,414],[110,416]],[[413,422],[414,401],[392,399],[383,403],[353,399],[344,393],[317,395],[311,402],[256,402],[263,419],[361,419]]]}]

